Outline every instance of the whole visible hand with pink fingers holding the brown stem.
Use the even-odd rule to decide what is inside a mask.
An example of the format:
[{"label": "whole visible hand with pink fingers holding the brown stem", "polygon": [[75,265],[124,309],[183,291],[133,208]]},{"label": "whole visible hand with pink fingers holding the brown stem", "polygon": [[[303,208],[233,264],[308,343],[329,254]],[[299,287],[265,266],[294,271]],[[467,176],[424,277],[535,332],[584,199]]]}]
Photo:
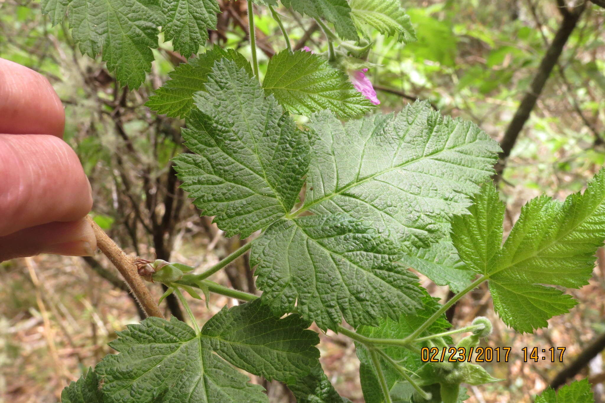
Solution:
[{"label": "whole visible hand with pink fingers holding the brown stem", "polygon": [[41,253],[90,256],[93,199],[65,113],[45,77],[0,59],[0,261]]}]

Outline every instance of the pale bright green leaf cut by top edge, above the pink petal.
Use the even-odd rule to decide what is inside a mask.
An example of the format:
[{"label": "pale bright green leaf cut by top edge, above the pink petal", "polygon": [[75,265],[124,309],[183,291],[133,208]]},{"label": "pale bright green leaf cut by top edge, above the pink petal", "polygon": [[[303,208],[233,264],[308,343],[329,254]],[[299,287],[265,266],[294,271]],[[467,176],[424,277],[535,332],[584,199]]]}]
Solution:
[{"label": "pale bright green leaf cut by top edge, above the pink petal", "polygon": [[360,31],[376,28],[385,35],[399,35],[399,42],[416,41],[410,16],[401,8],[400,0],[351,0],[351,16]]}]

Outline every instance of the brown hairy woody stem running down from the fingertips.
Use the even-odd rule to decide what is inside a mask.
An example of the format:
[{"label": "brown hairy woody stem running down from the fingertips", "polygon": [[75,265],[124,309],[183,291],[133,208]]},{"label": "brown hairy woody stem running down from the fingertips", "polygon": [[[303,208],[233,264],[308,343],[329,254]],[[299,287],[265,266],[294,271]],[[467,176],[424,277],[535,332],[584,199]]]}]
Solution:
[{"label": "brown hairy woody stem running down from the fingertips", "polygon": [[116,269],[124,278],[125,283],[128,284],[128,288],[137,299],[137,302],[143,308],[143,311],[145,311],[145,315],[163,318],[164,315],[162,315],[160,308],[155,303],[153,297],[151,297],[149,289],[143,283],[139,272],[137,272],[137,267],[132,263],[132,258],[128,257],[92,218],[87,216],[87,220],[93,227],[94,235],[97,238],[97,246],[111,263],[116,266]]}]

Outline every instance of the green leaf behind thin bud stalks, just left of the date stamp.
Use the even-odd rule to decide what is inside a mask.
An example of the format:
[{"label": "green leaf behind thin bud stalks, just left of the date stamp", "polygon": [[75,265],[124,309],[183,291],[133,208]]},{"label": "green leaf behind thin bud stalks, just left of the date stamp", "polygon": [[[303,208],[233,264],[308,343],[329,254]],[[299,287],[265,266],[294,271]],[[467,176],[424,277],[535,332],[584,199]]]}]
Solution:
[{"label": "green leaf behind thin bud stalks, just left of the date stamp", "polygon": [[[416,310],[414,315],[406,315],[402,314],[397,318],[397,320],[393,319],[383,319],[378,327],[370,327],[370,326],[362,326],[358,329],[358,333],[361,335],[371,337],[371,338],[393,338],[393,339],[402,339],[405,336],[410,335],[414,330],[416,330],[421,324],[423,324],[437,309],[439,309],[440,304],[437,303],[437,300],[429,297],[425,294],[425,297],[422,299],[424,306],[422,309]],[[450,328],[450,323],[446,321],[445,316],[437,319],[425,332],[422,333],[422,336],[427,336],[434,333],[445,332]],[[448,338],[448,341],[451,339]],[[384,396],[382,395],[382,389],[378,382],[378,377],[376,372],[374,372],[373,364],[371,363],[370,356],[365,349],[365,347],[361,345],[357,345],[357,355],[359,357],[359,361],[361,365],[359,367],[359,376],[361,378],[361,388],[364,392],[364,399],[366,403],[382,403],[384,401]],[[387,353],[388,356],[394,359],[399,365],[402,365],[407,370],[410,370],[410,376],[412,373],[420,370],[425,364],[421,361],[420,356],[416,353],[410,352],[410,350],[405,349],[404,347],[394,347],[389,346],[383,350]],[[413,395],[413,388],[410,387],[407,381],[399,375],[396,370],[391,367],[390,364],[387,364],[382,358],[381,368],[382,372],[385,375],[385,379],[387,381],[387,385],[391,390],[391,396],[393,399],[411,399]]]}]

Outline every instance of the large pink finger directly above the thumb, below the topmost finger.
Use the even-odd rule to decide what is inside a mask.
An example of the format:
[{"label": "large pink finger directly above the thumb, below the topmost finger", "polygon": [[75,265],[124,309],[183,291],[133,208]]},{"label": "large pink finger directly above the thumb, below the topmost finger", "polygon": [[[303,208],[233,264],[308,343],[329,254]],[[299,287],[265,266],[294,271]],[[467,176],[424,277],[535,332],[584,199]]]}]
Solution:
[{"label": "large pink finger directly above the thumb, below the topmost finger", "polygon": [[85,217],[90,183],[63,140],[42,135],[0,136],[0,235],[53,221]]}]

